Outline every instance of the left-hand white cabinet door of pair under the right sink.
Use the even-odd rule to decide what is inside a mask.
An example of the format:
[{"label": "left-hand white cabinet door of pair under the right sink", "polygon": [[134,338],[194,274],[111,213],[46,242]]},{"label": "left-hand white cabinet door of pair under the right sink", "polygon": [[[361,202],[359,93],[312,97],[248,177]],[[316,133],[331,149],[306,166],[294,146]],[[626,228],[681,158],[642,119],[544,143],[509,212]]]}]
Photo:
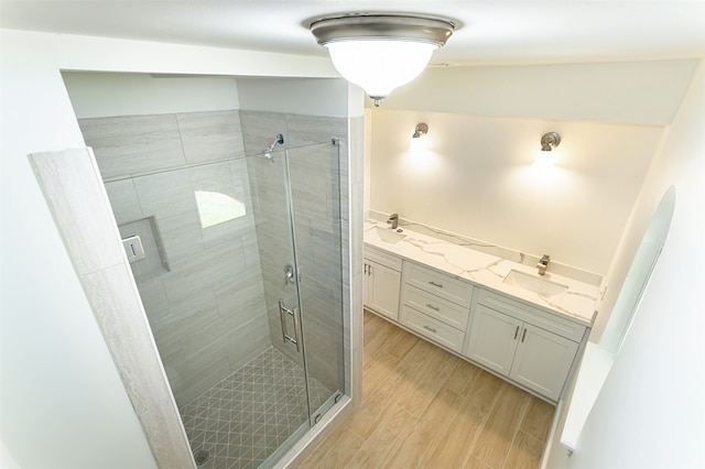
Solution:
[{"label": "left-hand white cabinet door of pair under the right sink", "polygon": [[467,357],[508,375],[523,323],[482,305],[475,307]]}]

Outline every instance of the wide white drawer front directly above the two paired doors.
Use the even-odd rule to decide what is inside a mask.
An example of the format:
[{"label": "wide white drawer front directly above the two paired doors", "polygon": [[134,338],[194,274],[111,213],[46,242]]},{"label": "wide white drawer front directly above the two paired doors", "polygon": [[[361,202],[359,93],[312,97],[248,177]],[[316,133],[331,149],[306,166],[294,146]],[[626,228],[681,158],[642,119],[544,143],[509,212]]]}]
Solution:
[{"label": "wide white drawer front directly above the two paired doors", "polygon": [[571,339],[575,342],[583,340],[586,327],[573,323],[570,319],[558,317],[554,314],[541,310],[536,307],[528,305],[516,299],[489,292],[485,288],[478,288],[477,303],[485,305],[495,310],[508,314],[517,319],[533,324],[542,329],[557,334],[558,336]]}]

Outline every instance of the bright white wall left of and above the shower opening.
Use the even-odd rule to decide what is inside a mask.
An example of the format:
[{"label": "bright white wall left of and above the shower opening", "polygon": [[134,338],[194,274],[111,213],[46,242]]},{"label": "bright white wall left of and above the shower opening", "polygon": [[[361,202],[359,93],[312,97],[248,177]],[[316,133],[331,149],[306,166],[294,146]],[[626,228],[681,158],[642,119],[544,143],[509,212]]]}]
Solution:
[{"label": "bright white wall left of and above the shower opening", "polygon": [[2,428],[21,467],[154,459],[26,155],[84,146],[61,69],[333,77],[327,59],[3,30]]}]

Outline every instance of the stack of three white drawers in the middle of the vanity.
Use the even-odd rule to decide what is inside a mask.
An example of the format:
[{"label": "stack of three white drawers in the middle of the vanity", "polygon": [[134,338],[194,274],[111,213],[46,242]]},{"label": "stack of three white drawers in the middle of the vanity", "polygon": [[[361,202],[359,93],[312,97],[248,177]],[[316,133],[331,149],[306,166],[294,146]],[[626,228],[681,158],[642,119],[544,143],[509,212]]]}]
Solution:
[{"label": "stack of three white drawers in the middle of the vanity", "polygon": [[403,262],[399,321],[449,350],[465,340],[473,285],[413,262]]}]

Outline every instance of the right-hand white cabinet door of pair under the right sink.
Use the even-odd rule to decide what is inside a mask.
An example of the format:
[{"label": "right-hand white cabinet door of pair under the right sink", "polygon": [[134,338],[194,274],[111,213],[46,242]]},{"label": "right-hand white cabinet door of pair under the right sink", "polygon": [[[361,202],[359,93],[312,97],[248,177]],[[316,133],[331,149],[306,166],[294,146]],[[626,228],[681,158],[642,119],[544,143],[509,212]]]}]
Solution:
[{"label": "right-hand white cabinet door of pair under the right sink", "polygon": [[578,345],[530,324],[520,336],[509,378],[557,401]]}]

